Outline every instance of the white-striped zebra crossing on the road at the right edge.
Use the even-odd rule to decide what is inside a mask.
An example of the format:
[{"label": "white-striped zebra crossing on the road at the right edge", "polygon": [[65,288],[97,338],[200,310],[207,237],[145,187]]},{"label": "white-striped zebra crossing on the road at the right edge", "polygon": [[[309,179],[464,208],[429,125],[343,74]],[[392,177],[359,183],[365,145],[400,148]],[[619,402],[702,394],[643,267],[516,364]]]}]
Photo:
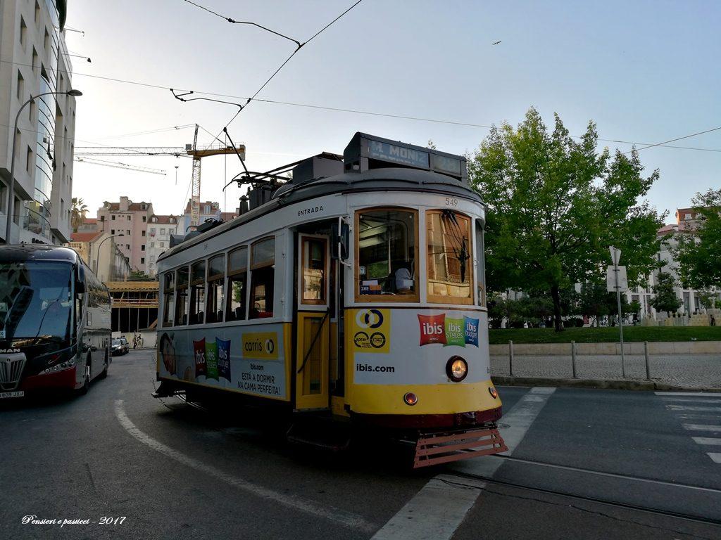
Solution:
[{"label": "white-striped zebra crossing on the road at the right edge", "polygon": [[676,415],[691,439],[714,463],[721,464],[721,394],[655,392]]}]

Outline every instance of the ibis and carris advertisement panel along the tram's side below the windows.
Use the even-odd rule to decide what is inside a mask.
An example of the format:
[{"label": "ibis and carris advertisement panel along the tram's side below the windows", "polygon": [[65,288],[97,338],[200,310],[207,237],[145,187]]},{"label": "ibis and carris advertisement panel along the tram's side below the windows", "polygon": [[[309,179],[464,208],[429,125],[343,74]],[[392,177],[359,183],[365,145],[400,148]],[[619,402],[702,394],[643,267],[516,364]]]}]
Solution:
[{"label": "ibis and carris advertisement panel along the tram's side below the windows", "polygon": [[288,400],[283,325],[159,333],[161,377]]}]

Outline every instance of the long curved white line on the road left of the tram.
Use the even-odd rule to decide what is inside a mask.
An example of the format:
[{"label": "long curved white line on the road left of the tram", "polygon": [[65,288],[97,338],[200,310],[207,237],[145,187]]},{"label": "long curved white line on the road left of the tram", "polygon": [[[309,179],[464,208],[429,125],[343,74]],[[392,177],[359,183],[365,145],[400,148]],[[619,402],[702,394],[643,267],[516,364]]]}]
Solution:
[{"label": "long curved white line on the road left of the tram", "polygon": [[208,476],[226,482],[226,484],[236,487],[239,490],[243,490],[251,495],[284,505],[288,508],[293,508],[293,510],[299,510],[304,513],[325,518],[329,521],[335,521],[335,523],[340,523],[341,525],[349,528],[361,529],[367,533],[376,531],[378,528],[377,525],[366,521],[361,516],[346,512],[345,510],[340,510],[340,508],[333,508],[332,506],[313,503],[308,499],[295,498],[292,495],[284,495],[283,493],[269,490],[267,487],[255,485],[247,480],[243,480],[242,478],[234,477],[231,474],[221,471],[221,469],[216,469],[216,467],[211,467],[203,462],[199,462],[197,459],[186,456],[185,454],[162,444],[162,442],[156,441],[151,436],[143,433],[143,431],[140,431],[136,425],[133,424],[132,420],[128,418],[128,415],[125,414],[125,408],[123,408],[123,400],[115,400],[115,416],[118,417],[118,421],[120,422],[120,425],[125,428],[125,431],[128,431],[128,433],[138,439],[138,441],[142,444],[160,452],[161,454],[164,454],[165,456],[168,456],[171,459],[174,459],[186,467],[208,474]]}]

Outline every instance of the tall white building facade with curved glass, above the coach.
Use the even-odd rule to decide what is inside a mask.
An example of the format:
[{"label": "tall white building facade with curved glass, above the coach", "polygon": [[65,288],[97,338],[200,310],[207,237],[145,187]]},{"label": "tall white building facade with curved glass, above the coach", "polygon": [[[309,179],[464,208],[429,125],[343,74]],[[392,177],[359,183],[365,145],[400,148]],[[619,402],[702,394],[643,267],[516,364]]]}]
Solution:
[{"label": "tall white building facade with curved glass, above the coach", "polygon": [[[6,238],[8,185],[15,158],[11,243],[63,244],[71,239],[75,98],[35,99],[72,89],[63,26],[65,0],[0,2],[0,237]],[[14,152],[13,152],[14,145]]]}]

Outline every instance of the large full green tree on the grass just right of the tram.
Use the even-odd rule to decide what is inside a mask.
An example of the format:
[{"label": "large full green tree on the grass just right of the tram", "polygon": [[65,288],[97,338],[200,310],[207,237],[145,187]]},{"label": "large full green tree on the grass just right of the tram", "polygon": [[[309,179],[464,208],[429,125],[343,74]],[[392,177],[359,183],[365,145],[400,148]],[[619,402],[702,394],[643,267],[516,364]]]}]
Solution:
[{"label": "large full green tree on the grass just right of the tram", "polygon": [[469,159],[469,179],[488,204],[487,287],[541,289],[562,330],[562,291],[601,279],[609,246],[624,252],[629,281],[654,267],[664,216],[647,202],[658,171],[641,176],[633,150],[596,152],[596,125],[574,140],[558,115],[552,132],[536,109],[514,129],[493,127]]}]

